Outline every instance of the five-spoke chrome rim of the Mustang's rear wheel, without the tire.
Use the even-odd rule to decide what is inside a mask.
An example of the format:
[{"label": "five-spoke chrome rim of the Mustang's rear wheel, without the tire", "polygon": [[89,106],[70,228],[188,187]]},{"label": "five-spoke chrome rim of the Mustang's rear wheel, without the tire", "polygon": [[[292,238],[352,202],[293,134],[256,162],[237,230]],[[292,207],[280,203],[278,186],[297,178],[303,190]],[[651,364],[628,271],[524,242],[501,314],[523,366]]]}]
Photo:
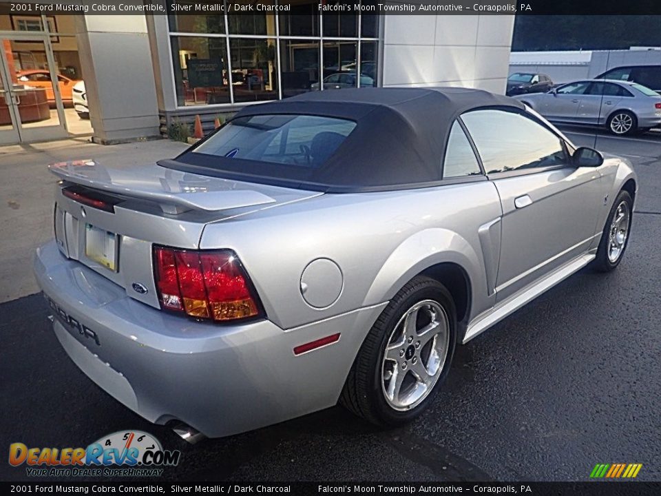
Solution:
[{"label": "five-spoke chrome rim of the Mustang's rear wheel, without the tire", "polygon": [[439,380],[450,349],[450,321],[434,300],[414,304],[399,319],[381,363],[381,388],[395,410],[420,404]]}]

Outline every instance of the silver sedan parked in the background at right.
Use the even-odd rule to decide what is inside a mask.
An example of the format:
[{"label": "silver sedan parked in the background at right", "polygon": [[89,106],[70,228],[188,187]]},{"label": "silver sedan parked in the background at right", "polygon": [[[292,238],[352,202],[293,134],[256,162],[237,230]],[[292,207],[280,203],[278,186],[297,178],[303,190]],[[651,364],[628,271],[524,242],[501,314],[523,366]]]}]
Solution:
[{"label": "silver sedan parked in the background at right", "polygon": [[574,81],[546,93],[514,96],[549,121],[605,126],[618,135],[661,125],[661,95],[629,81]]}]

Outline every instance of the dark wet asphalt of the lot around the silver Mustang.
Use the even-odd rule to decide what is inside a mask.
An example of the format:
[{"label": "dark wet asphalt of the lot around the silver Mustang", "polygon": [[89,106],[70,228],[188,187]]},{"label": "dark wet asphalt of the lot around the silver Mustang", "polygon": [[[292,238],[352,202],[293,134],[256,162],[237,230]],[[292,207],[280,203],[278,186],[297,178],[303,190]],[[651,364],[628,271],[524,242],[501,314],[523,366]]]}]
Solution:
[{"label": "dark wet asphalt of the lot around the silver Mustang", "polygon": [[[190,446],[79,371],[34,294],[0,304],[0,447],[86,446],[140,429],[182,451],[164,474],[173,480],[583,480],[600,462],[642,463],[638,479],[660,479],[661,136],[563,130],[638,173],[625,259],[608,275],[583,269],[459,347],[410,426],[377,431],[335,407]],[[25,469],[0,464],[0,479]]]}]

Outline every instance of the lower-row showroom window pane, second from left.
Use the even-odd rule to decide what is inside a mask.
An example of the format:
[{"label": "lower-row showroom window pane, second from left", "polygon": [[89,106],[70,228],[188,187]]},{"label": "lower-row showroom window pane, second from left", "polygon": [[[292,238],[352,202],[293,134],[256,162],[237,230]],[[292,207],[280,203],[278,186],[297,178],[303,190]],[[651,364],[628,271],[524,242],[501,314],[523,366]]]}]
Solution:
[{"label": "lower-row showroom window pane, second from left", "polygon": [[275,39],[231,39],[229,50],[234,101],[277,99]]}]

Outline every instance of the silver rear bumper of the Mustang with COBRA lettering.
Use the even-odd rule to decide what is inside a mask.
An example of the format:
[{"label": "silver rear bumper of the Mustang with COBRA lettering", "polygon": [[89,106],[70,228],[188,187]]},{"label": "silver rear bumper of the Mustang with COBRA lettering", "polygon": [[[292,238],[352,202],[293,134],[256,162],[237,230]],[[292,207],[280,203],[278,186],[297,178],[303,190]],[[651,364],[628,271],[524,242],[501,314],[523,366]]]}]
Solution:
[{"label": "silver rear bumper of the Mustang with COBRA lettering", "polygon": [[[232,435],[337,402],[357,349],[386,303],[283,330],[269,320],[234,326],[174,316],[137,302],[55,242],[34,274],[54,331],[98,386],[150,422],[180,420],[209,437]],[[293,348],[341,332],[302,355]]]}]

